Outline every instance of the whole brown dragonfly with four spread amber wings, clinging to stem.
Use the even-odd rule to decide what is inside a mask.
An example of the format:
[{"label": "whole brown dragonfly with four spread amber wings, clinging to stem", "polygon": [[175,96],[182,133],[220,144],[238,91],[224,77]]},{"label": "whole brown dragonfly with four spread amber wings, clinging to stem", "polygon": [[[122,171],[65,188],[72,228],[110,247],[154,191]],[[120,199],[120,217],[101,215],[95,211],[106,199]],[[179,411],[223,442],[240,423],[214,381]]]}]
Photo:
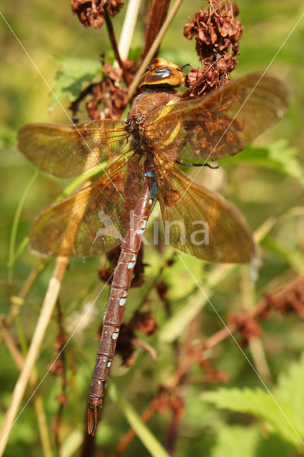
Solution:
[{"label": "whole brown dragonfly with four spread amber wings, clinging to stem", "polygon": [[[249,74],[183,100],[173,88],[184,79],[178,66],[154,59],[139,84],[146,90],[134,99],[126,121],[29,124],[19,131],[20,151],[46,173],[66,178],[101,161],[111,164],[93,184],[44,210],[29,233],[31,250],[42,256],[97,256],[121,245],[88,398],[91,434],[156,200],[168,239],[181,251],[230,263],[250,262],[256,255],[240,213],[192,182],[178,164],[204,165],[237,154],[283,116],[288,87],[273,76]],[[197,230],[198,221],[205,221],[204,230]]]}]

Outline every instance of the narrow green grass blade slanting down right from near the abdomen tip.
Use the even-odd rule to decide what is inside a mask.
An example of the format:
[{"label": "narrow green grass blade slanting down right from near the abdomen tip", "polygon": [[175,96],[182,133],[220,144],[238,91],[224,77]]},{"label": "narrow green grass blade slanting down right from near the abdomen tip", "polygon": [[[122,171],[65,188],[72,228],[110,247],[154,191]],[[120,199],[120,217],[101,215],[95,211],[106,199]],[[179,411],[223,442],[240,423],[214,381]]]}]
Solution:
[{"label": "narrow green grass blade slanting down right from near the abdomen tip", "polygon": [[126,420],[133,428],[133,431],[136,433],[138,438],[143,443],[143,446],[146,446],[148,451],[153,457],[170,457],[166,450],[163,448],[161,443],[156,439],[156,437],[151,433],[145,423],[141,421],[141,418],[138,416],[138,413],[132,408],[130,403],[126,401],[119,393],[116,386],[111,383],[108,386],[108,394],[111,396],[111,399],[116,406],[121,408]]}]

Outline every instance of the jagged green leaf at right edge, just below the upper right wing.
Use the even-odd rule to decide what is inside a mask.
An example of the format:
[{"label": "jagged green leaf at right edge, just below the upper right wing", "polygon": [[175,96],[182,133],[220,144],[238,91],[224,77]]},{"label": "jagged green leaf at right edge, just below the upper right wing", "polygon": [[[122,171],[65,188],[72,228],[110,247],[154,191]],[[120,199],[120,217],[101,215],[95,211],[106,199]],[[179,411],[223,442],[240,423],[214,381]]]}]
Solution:
[{"label": "jagged green leaf at right edge, just below the upper right wing", "polygon": [[[280,139],[263,147],[246,146],[240,153],[229,157],[230,164],[254,164],[268,169],[280,171],[291,176],[304,186],[303,167],[298,160],[298,150],[288,146],[287,141]],[[221,159],[226,163],[227,158]]]}]

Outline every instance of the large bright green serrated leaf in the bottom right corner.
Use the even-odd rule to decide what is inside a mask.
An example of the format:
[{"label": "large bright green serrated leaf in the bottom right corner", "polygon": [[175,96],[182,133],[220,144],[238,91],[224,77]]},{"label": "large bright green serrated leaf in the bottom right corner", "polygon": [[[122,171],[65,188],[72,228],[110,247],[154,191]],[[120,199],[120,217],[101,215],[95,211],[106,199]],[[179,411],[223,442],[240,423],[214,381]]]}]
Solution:
[{"label": "large bright green serrated leaf in the bottom right corner", "polygon": [[220,388],[204,393],[203,400],[218,408],[252,414],[268,423],[285,441],[298,446],[304,438],[304,355],[280,376],[272,395],[260,388]]}]

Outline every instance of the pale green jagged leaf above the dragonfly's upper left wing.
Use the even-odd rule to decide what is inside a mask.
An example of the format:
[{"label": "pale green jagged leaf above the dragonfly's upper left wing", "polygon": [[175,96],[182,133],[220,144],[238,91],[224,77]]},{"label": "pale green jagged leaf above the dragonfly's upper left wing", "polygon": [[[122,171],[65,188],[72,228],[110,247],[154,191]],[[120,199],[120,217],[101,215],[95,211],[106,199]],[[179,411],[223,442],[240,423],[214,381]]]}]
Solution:
[{"label": "pale green jagged leaf above the dragonfly's upper left wing", "polygon": [[[96,59],[80,59],[77,57],[56,57],[59,65],[52,88],[59,101],[68,97],[74,101],[83,89],[83,83],[91,83],[96,75],[101,74],[101,62]],[[58,103],[53,94],[49,103],[49,110]]]}]

